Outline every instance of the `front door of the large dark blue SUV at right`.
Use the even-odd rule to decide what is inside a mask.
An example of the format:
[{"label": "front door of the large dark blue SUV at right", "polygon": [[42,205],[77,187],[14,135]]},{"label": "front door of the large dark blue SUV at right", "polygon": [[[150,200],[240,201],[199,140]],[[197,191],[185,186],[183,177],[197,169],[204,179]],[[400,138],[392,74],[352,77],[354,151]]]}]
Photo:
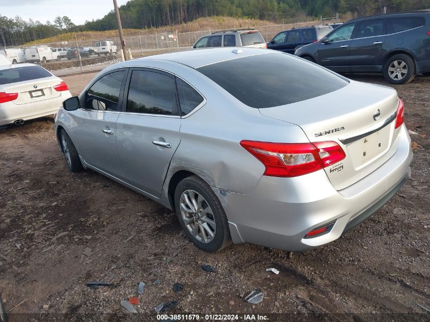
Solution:
[{"label": "front door of the large dark blue SUV at right", "polygon": [[349,56],[351,37],[356,23],[338,27],[320,43],[318,48],[318,63],[338,72],[350,71]]}]

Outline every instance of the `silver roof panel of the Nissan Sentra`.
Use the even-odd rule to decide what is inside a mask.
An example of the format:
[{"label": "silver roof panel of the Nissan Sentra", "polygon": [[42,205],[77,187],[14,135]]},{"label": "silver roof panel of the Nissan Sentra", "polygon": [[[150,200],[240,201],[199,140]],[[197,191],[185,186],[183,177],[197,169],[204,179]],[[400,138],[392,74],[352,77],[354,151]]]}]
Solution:
[{"label": "silver roof panel of the Nissan Sentra", "polygon": [[[238,51],[239,53],[235,53],[234,51]],[[236,58],[268,53],[280,52],[263,48],[248,47],[201,48],[137,58],[132,61],[116,64],[116,66],[128,67],[141,65],[144,67],[146,61],[159,60],[174,62],[196,69],[202,66],[212,65]]]}]

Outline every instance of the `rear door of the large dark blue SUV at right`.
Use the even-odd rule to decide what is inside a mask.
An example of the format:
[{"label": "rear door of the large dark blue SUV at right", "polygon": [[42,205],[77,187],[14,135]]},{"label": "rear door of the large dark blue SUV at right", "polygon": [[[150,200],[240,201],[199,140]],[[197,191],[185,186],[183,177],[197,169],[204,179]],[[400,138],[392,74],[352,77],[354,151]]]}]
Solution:
[{"label": "rear door of the large dark blue SUV at right", "polygon": [[385,19],[361,21],[351,41],[350,65],[353,72],[378,71],[385,43]]}]

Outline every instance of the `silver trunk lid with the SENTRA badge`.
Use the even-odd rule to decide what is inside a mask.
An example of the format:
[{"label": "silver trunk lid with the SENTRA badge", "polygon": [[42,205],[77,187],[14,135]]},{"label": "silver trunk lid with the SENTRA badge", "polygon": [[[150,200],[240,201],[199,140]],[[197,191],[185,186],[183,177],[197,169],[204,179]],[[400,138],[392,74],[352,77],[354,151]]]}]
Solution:
[{"label": "silver trunk lid with the SENTRA badge", "polygon": [[310,142],[338,143],[346,158],[324,170],[340,190],[377,169],[397,150],[397,106],[397,92],[390,87],[351,81],[329,94],[260,112],[300,126]]}]

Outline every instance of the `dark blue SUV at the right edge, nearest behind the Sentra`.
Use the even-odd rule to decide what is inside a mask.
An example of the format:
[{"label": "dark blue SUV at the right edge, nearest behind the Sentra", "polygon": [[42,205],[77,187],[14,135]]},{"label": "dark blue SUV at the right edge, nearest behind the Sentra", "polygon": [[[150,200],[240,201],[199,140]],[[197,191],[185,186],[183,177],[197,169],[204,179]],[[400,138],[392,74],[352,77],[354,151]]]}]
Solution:
[{"label": "dark blue SUV at the right edge, nearest behind the Sentra", "polygon": [[353,19],[295,54],[336,72],[382,72],[405,84],[430,74],[430,10]]}]

